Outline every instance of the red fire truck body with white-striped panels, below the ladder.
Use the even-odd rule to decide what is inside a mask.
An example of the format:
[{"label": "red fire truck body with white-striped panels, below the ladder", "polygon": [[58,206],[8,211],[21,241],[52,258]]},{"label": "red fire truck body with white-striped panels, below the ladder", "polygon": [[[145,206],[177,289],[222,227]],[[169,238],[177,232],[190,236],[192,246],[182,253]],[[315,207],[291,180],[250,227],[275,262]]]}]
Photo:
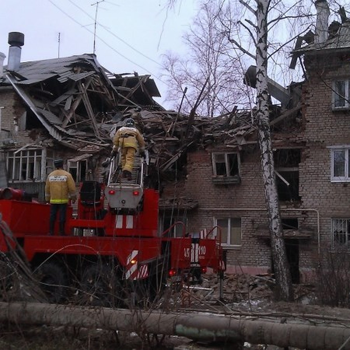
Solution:
[{"label": "red fire truck body with white-striped panels, below the ladder", "polygon": [[[2,220],[12,232],[8,237],[0,231],[0,251],[6,253],[20,245],[33,271],[44,275],[42,279],[62,275],[66,285],[78,283],[79,288],[90,288],[89,293],[96,287],[95,282],[90,283],[91,275],[97,278],[101,269],[112,271],[123,288],[133,285],[135,290],[135,282],[143,281],[147,290],[158,291],[169,275],[208,267],[222,271],[222,248],[215,237],[193,238],[185,231],[182,237],[168,237],[171,230],[159,233],[158,191],[143,189],[141,203],[132,210],[110,208],[105,191],[94,181],[83,184],[76,215],[68,205],[63,236],[58,235],[58,224],[55,234],[49,235],[50,204],[24,201],[18,196],[0,199]],[[47,264],[54,272],[43,268]],[[72,271],[73,277],[68,276]],[[53,294],[52,301],[60,299],[59,293],[64,294],[63,289],[46,291]]]}]

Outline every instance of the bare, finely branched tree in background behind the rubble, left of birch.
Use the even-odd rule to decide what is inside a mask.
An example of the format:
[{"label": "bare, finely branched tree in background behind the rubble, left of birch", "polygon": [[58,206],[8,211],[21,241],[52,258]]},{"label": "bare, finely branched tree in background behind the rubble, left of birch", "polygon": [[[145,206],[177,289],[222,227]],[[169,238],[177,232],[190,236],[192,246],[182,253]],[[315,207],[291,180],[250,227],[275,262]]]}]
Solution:
[{"label": "bare, finely branched tree in background behind the rubble, left of birch", "polygon": [[180,57],[168,52],[163,56],[163,75],[169,86],[167,100],[173,102],[175,109],[185,87],[188,92],[183,111],[189,112],[196,104],[197,113],[203,116],[230,112],[247,100],[240,63],[242,53],[228,46],[226,28],[220,20],[230,16],[230,5],[224,5],[223,0],[202,1],[193,24],[183,36],[188,54]]}]

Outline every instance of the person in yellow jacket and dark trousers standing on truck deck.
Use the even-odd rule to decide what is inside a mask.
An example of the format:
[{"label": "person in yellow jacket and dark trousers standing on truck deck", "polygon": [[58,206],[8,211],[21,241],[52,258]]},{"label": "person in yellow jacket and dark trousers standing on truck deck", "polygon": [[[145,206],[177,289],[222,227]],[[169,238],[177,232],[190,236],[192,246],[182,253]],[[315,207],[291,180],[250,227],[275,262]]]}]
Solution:
[{"label": "person in yellow jacket and dark trousers standing on truck deck", "polygon": [[64,224],[69,198],[74,203],[76,188],[72,175],[63,170],[63,160],[54,161],[55,170],[49,174],[45,183],[45,200],[50,202],[50,235],[54,234],[57,212],[59,211],[59,234],[64,235]]}]

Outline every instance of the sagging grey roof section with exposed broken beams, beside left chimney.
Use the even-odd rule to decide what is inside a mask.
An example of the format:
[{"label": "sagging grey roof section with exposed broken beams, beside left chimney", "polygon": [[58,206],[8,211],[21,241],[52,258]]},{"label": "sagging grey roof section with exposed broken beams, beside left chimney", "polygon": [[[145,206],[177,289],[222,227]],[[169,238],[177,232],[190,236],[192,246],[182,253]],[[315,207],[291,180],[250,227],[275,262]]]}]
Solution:
[{"label": "sagging grey roof section with exposed broken beams, beside left chimney", "polygon": [[[5,67],[6,68],[6,67]],[[114,76],[93,54],[24,62],[7,71],[11,84],[52,138],[91,151],[110,144],[110,125],[118,113],[128,115],[142,106],[161,107],[149,75]],[[94,147],[92,147],[94,146]]]}]

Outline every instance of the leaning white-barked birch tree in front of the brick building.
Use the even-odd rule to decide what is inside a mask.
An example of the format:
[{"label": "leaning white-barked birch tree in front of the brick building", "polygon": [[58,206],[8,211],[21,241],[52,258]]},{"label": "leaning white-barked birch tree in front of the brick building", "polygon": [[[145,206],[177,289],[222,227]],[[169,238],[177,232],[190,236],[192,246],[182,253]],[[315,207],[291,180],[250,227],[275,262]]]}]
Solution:
[{"label": "leaning white-barked birch tree in front of the brick building", "polygon": [[[276,286],[278,288],[277,296],[283,300],[290,300],[293,297],[292,280],[288,267],[286,248],[282,234],[282,224],[279,208],[279,200],[276,188],[274,161],[271,132],[269,127],[269,94],[268,94],[268,62],[273,61],[281,52],[285,52],[284,47],[293,43],[297,35],[302,35],[311,28],[310,21],[311,8],[310,3],[303,0],[297,2],[282,2],[279,0],[255,0],[255,6],[252,8],[249,1],[238,0],[248,12],[253,15],[254,21],[249,19],[244,23],[238,21],[239,27],[244,27],[250,35],[250,39],[254,43],[255,58],[257,66],[256,70],[256,122],[258,128],[258,142],[260,146],[260,161],[262,169],[262,179],[265,188],[265,201],[269,218],[269,230],[271,237],[272,259],[274,263],[274,272],[276,277]],[[338,3],[336,3],[339,6]],[[284,24],[282,24],[284,22]],[[287,22],[287,23],[286,23]],[[292,24],[292,26],[288,26]],[[289,28],[285,30],[285,35],[280,35],[282,42],[276,40],[275,36],[269,35],[276,28]],[[297,33],[294,32],[297,28]],[[281,29],[279,29],[281,30]],[[294,32],[294,33],[293,33]],[[283,42],[283,40],[285,42]],[[249,54],[249,51],[244,49],[241,42],[234,38],[230,41],[243,52]],[[292,51],[289,48],[289,52]],[[281,60],[283,62],[283,60]],[[278,65],[273,64],[275,71],[285,71]]]}]

